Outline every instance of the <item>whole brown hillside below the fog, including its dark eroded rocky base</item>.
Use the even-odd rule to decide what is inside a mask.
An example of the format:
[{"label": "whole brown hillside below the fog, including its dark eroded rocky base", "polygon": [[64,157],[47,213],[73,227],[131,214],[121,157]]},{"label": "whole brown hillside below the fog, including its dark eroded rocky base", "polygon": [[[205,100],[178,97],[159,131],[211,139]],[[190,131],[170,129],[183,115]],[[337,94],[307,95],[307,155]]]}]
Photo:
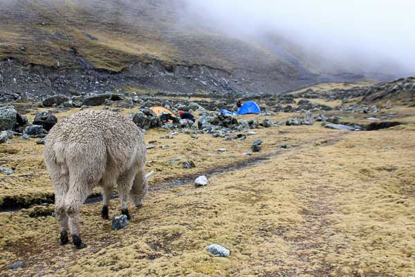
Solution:
[{"label": "whole brown hillside below the fog, including its dark eroded rocky base", "polygon": [[2,0],[1,93],[277,93],[361,75],[322,72],[288,42],[261,46],[185,20],[184,1]]}]

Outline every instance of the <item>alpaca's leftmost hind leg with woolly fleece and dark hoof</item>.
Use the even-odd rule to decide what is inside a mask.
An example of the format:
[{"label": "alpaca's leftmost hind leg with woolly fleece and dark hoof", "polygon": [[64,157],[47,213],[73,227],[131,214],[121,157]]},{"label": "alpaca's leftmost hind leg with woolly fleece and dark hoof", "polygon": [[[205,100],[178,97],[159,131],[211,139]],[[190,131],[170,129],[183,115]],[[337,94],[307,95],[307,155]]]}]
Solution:
[{"label": "alpaca's leftmost hind leg with woolly fleece and dark hoof", "polygon": [[69,178],[65,172],[56,170],[55,175],[52,176],[52,181],[55,186],[55,214],[57,224],[60,231],[60,243],[68,243],[68,215],[65,209],[65,197],[68,192]]}]

